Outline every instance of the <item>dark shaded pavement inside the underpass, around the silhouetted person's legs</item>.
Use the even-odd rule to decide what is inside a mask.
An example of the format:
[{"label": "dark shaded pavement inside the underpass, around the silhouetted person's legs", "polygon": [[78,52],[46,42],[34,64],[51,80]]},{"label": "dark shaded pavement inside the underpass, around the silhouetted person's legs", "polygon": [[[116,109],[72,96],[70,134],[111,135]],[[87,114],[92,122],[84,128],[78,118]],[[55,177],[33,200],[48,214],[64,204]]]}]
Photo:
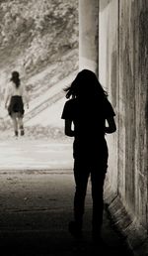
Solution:
[{"label": "dark shaded pavement inside the underpass, around the silhouetted person's legs", "polygon": [[[90,184],[86,198],[84,238],[71,237],[74,192],[70,171],[5,173],[0,176],[1,255],[126,255],[125,241],[113,230],[105,211],[103,239],[94,246],[91,237]],[[3,252],[2,252],[3,251]]]}]

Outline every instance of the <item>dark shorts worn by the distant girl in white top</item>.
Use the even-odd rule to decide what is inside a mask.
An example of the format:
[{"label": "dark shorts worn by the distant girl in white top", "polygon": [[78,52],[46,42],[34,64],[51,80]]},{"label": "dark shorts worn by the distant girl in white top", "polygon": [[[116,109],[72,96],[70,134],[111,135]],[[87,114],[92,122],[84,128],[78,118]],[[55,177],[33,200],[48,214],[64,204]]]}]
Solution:
[{"label": "dark shorts worn by the distant girl in white top", "polygon": [[24,112],[25,110],[22,96],[12,96],[8,107],[9,115],[12,116],[13,113],[19,113],[20,116],[23,117]]}]

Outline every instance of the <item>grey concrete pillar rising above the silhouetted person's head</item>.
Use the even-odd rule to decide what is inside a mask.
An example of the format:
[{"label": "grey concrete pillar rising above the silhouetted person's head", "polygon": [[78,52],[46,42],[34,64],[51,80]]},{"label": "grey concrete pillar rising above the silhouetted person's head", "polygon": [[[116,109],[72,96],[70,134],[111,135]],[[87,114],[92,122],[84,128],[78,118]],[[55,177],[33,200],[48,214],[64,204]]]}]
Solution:
[{"label": "grey concrete pillar rising above the silhouetted person's head", "polygon": [[99,0],[79,0],[79,69],[88,68],[98,75]]}]

